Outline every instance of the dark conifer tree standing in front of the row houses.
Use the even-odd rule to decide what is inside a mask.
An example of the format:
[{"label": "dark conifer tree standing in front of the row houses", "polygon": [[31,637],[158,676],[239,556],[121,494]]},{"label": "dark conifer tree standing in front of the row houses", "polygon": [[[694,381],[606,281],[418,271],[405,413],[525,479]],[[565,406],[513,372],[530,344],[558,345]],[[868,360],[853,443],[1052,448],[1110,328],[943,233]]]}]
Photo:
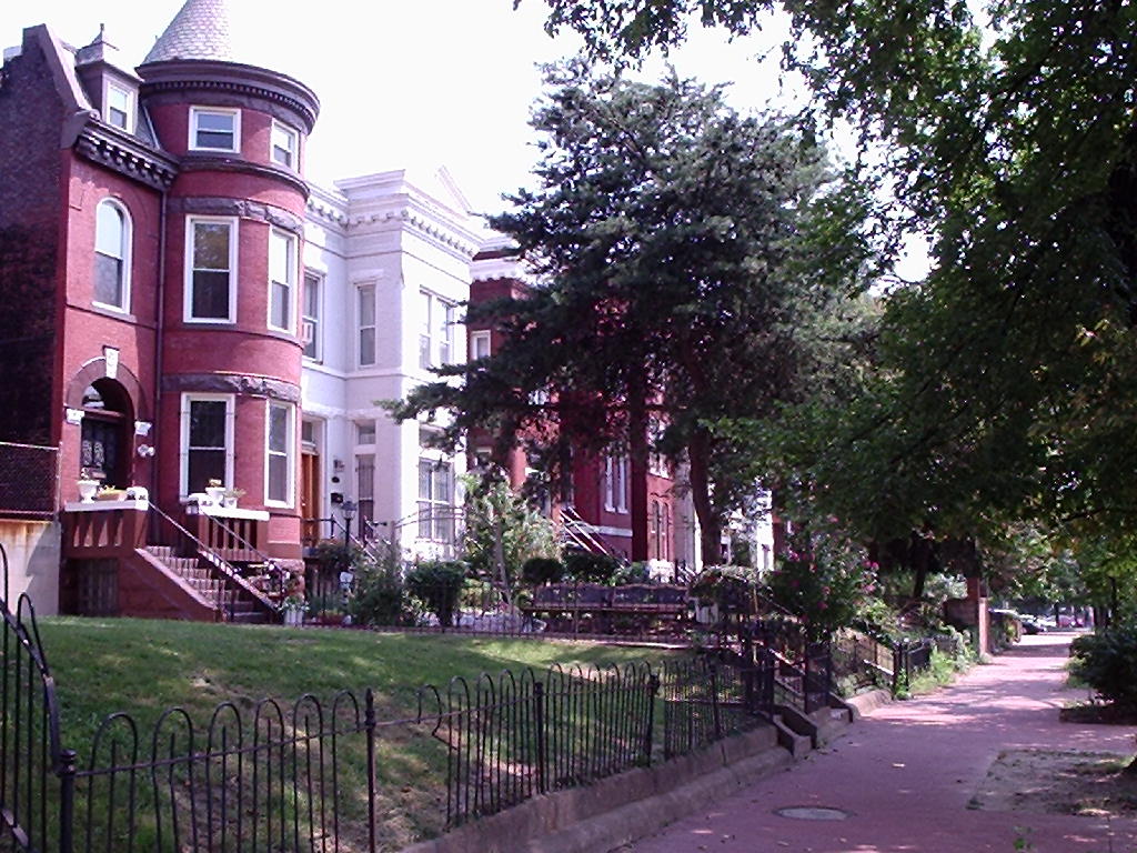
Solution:
[{"label": "dark conifer tree standing in front of the row houses", "polygon": [[[396,414],[449,409],[447,444],[489,429],[503,448],[525,440],[554,474],[570,447],[625,449],[633,483],[650,452],[682,458],[704,553],[717,554],[755,483],[709,424],[761,419],[800,392],[810,330],[860,285],[864,199],[810,134],[738,115],[719,89],[579,63],[550,68],[548,86],[536,185],[491,220],[541,283],[472,307],[504,326],[504,346],[443,370]],[[646,491],[631,498],[646,514]],[[633,540],[632,558],[646,556]]]}]

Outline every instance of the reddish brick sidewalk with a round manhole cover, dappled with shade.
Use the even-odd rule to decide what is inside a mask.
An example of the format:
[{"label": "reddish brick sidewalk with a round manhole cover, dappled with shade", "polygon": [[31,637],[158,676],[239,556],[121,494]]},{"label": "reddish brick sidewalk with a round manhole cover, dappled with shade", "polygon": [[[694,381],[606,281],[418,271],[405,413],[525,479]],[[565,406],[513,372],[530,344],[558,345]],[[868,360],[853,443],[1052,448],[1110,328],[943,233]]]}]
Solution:
[{"label": "reddish brick sidewalk with a round manhole cover, dappled with shade", "polygon": [[[1059,722],[1073,635],[1026,637],[954,686],[886,705],[825,750],[719,809],[623,850],[634,853],[1135,853],[1137,820],[996,812],[968,802],[1003,750],[1132,752],[1134,728]],[[1137,794],[1137,785],[1135,785]],[[829,806],[845,820],[774,814]],[[1020,828],[1027,828],[1024,833]]]}]

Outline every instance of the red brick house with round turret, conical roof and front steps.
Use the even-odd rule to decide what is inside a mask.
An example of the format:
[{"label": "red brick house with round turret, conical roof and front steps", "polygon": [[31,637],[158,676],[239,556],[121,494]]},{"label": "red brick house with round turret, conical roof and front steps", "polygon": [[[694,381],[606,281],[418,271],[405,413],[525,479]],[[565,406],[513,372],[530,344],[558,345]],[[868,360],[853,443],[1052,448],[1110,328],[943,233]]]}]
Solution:
[{"label": "red brick house with round turret, conical roof and front steps", "polygon": [[[219,0],[188,0],[136,72],[101,33],[75,49],[47,26],[5,59],[0,441],[59,447],[64,606],[265,610],[175,540],[181,525],[233,561],[301,557],[302,158],[318,101],[234,57]],[[144,500],[80,504],[80,480],[142,487],[168,520],[132,514]],[[210,487],[230,491],[191,497]]]}]

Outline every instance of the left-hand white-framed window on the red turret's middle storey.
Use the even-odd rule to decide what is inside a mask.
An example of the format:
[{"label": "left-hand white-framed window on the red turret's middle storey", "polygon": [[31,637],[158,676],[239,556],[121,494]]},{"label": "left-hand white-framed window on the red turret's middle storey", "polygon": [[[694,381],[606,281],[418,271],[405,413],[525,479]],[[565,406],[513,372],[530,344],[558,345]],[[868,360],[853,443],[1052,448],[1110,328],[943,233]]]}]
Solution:
[{"label": "left-hand white-framed window on the red turret's middle storey", "polygon": [[236,321],[236,220],[190,216],[185,223],[186,323]]}]

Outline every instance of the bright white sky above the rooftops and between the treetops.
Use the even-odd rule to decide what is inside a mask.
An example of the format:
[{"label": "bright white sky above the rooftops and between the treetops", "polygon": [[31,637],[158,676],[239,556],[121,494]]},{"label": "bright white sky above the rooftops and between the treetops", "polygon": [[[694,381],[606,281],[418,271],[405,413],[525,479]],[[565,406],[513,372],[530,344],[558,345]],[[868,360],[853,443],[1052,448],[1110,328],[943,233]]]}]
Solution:
[{"label": "bright white sky above the rooftops and between the treetops", "polygon": [[[86,44],[106,24],[132,68],[166,28],[183,0],[0,0],[0,44],[20,41],[25,26],[47,23],[56,35]],[[322,109],[307,150],[309,180],[335,180],[393,168],[446,165],[471,206],[504,207],[503,192],[529,183],[536,158],[530,108],[540,94],[538,63],[574,55],[573,34],[545,34],[542,0],[232,0],[234,34],[251,64],[282,71],[309,85]],[[266,14],[267,9],[274,14]],[[783,25],[728,42],[692,26],[671,61],[680,75],[730,82],[737,109],[789,105],[778,48]],[[770,53],[764,63],[760,55]],[[658,76],[654,59],[645,74]],[[837,140],[838,148],[844,140]]]}]

